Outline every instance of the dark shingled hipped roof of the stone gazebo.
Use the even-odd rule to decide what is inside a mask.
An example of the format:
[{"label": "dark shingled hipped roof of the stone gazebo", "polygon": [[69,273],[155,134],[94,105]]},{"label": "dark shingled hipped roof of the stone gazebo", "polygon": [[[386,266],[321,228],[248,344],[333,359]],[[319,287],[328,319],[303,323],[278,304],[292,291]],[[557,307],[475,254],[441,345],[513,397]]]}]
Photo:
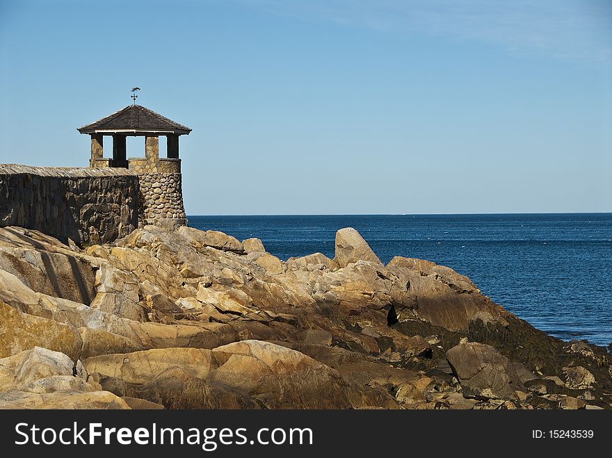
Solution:
[{"label": "dark shingled hipped roof of the stone gazebo", "polygon": [[177,135],[188,135],[191,132],[188,127],[140,105],[128,105],[77,130],[81,133],[175,133]]}]

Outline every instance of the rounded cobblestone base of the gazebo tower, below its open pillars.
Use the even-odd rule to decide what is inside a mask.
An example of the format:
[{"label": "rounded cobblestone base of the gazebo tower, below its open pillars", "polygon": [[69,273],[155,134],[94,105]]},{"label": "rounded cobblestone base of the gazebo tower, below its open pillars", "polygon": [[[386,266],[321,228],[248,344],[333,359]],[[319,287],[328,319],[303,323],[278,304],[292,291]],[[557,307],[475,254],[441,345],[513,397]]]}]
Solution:
[{"label": "rounded cobblestone base of the gazebo tower, below its open pillars", "polygon": [[144,224],[187,224],[180,173],[146,173],[139,178],[140,218]]}]

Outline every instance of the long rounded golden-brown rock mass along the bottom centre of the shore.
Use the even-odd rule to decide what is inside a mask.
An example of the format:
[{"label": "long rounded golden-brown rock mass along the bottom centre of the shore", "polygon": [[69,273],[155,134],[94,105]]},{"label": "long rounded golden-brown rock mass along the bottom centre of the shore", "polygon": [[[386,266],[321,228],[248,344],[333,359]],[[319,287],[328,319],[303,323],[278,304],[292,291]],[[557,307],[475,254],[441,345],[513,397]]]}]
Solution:
[{"label": "long rounded golden-brown rock mass along the bottom centre of the shore", "polygon": [[[347,386],[335,370],[305,354],[261,341],[241,341],[214,350],[173,348],[111,354],[89,358],[84,365],[89,373],[99,373],[105,389],[147,396],[166,407],[385,404],[380,395],[368,395],[368,390],[357,395],[356,388]],[[389,401],[386,405],[392,407]]]}]

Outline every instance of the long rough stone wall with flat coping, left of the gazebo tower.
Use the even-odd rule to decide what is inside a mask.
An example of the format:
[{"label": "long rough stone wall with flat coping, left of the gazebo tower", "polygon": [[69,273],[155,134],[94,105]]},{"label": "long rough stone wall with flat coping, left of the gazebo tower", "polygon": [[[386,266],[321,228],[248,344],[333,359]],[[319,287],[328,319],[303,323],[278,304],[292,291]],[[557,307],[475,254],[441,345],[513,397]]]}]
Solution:
[{"label": "long rough stone wall with flat coping, left of the gazebo tower", "polygon": [[138,201],[138,176],[124,168],[0,164],[0,227],[106,243],[138,227]]}]

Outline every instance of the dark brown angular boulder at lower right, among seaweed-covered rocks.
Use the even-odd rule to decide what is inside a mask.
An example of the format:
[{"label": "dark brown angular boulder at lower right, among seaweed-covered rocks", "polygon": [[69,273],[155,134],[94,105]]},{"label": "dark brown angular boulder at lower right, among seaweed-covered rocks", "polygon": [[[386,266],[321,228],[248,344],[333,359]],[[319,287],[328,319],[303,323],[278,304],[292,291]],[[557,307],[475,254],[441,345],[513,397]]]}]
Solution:
[{"label": "dark brown angular boulder at lower right, among seaweed-covered rocks", "polygon": [[510,360],[490,345],[462,343],[446,359],[467,398],[518,400],[515,391],[524,391]]}]

